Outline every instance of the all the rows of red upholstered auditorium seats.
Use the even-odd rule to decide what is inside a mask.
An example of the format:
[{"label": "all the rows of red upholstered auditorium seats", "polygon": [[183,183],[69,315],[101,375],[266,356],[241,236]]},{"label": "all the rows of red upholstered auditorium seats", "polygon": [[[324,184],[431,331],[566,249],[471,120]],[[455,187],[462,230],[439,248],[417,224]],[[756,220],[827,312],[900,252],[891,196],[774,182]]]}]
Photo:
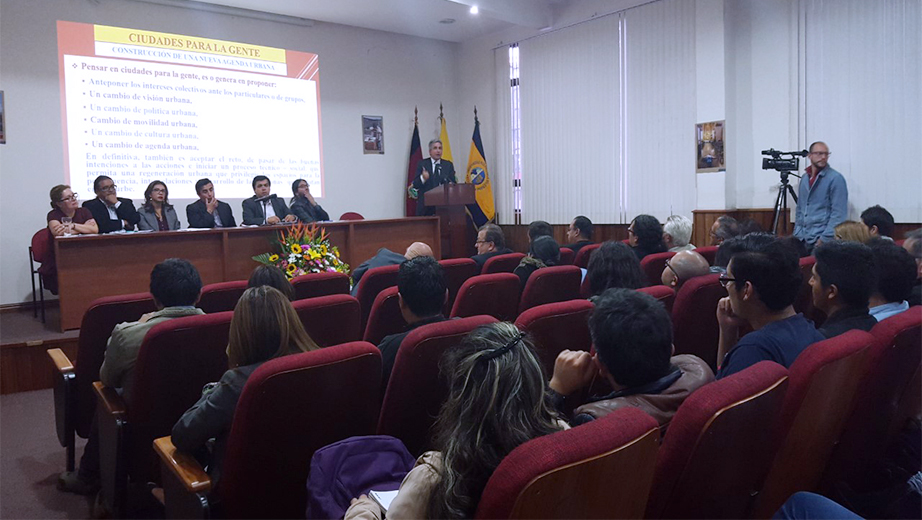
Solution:
[{"label": "all the rows of red upholstered auditorium seats", "polygon": [[[483,272],[505,269],[496,265],[504,259],[491,260]],[[467,259],[441,263],[449,279],[448,312],[460,319],[414,330],[386,387],[374,344],[404,325],[396,308],[396,266],[369,270],[358,299],[346,294],[348,280],[335,273],[294,281],[302,298],[293,302],[298,315],[328,348],[271,361],[248,382],[216,490],[225,516],[303,516],[311,454],[331,442],[381,433],[401,439],[414,454],[431,447],[429,427],[446,393],[438,360],[481,324],[515,320],[534,337],[548,373],[560,350],[591,349],[586,319],[592,304],[579,298],[575,267],[536,271],[520,295],[511,273],[478,275]],[[508,269],[517,263],[510,259]],[[212,491],[207,475],[161,437],[202,386],[226,370],[228,309],[245,285],[207,286],[200,306],[208,314],[154,327],[141,347],[128,402],[94,381],[112,328],[153,310],[149,294],[91,305],[76,366],[49,351],[68,469],[74,435],[89,434],[96,410],[103,493],[117,514],[127,511],[129,480],[163,482],[170,516],[213,513],[203,505]],[[725,294],[717,275],[692,279],[678,294],[663,286],[642,290],[671,306],[676,352],[713,366],[714,308]],[[527,443],[497,469],[478,516],[765,516],[790,492],[828,490],[860,473],[860,462],[880,453],[900,418],[915,413],[920,312],[916,307],[891,318],[872,335],[852,332],[817,344],[790,371],[760,363],[706,386],[682,406],[662,444],[655,421],[636,410]]]}]

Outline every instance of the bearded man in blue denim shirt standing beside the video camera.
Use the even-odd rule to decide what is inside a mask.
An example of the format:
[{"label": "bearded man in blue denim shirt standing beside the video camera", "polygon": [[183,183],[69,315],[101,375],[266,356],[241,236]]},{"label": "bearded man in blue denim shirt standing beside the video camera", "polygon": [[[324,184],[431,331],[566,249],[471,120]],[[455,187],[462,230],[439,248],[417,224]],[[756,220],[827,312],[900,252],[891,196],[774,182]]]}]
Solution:
[{"label": "bearded man in blue denim shirt standing beside the video camera", "polygon": [[800,180],[794,236],[807,251],[835,239],[835,228],[848,217],[848,186],[845,177],[827,161],[829,147],[822,141],[810,145],[810,166]]}]

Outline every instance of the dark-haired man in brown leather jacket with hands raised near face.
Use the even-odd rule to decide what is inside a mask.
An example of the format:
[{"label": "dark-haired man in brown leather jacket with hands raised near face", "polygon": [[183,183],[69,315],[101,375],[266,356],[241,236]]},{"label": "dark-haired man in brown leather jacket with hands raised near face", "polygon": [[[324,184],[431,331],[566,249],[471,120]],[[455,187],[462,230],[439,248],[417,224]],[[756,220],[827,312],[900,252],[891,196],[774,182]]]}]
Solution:
[{"label": "dark-haired man in brown leather jacket with hands raised near face", "polygon": [[672,355],[669,313],[648,294],[605,291],[596,299],[589,330],[596,353],[561,352],[549,384],[556,393],[552,396],[563,411],[564,398],[587,388],[596,377],[608,382],[614,392],[577,407],[570,421],[574,426],[631,406],[650,414],[665,430],[682,401],[714,380],[701,359]]}]

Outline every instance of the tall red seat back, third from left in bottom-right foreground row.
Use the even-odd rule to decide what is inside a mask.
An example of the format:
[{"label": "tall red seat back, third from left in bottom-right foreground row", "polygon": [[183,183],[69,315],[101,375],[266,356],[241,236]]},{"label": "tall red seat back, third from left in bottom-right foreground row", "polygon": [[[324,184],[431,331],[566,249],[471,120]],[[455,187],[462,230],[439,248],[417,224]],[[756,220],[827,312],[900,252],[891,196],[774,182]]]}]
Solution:
[{"label": "tall red seat back, third from left in bottom-right foreground row", "polygon": [[777,423],[783,439],[753,515],[768,518],[796,491],[815,491],[854,404],[874,336],[860,330],[807,347],[788,371]]}]

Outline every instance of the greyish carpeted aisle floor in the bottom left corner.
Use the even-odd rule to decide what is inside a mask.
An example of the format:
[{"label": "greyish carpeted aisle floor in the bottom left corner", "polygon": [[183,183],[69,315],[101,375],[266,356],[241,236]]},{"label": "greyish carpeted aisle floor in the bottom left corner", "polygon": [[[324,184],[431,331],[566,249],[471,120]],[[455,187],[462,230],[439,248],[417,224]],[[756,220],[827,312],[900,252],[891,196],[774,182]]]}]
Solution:
[{"label": "greyish carpeted aisle floor in the bottom left corner", "polygon": [[0,396],[0,518],[89,518],[89,497],[56,488],[64,459],[52,390]]}]

